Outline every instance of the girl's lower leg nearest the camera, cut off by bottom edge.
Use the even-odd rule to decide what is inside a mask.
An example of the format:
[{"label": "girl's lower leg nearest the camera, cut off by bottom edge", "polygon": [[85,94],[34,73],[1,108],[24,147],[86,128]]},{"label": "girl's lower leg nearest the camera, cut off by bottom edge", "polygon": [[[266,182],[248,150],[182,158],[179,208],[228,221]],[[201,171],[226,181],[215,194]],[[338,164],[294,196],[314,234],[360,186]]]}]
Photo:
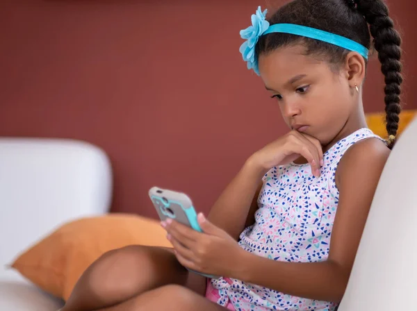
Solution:
[{"label": "girl's lower leg nearest the camera, cut off by bottom edge", "polygon": [[165,285],[97,311],[229,311],[180,285]]}]

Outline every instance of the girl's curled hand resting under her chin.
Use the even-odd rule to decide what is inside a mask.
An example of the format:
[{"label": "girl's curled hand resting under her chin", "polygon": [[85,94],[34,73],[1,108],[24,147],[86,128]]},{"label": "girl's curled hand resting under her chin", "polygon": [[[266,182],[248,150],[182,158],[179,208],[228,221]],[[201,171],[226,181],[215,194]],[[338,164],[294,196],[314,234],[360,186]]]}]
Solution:
[{"label": "girl's curled hand resting under her chin", "polygon": [[323,165],[320,142],[315,137],[297,131],[291,131],[267,144],[263,149],[256,151],[252,158],[261,169],[268,170],[293,162],[300,158],[300,155],[309,161],[313,175],[320,176],[320,167]]}]

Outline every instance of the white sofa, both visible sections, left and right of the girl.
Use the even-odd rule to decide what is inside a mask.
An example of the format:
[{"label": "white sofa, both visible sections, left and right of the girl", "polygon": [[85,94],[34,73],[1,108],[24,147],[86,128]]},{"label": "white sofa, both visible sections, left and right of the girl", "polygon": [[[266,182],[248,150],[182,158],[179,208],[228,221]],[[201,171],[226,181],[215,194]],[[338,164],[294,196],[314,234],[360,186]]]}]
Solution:
[{"label": "white sofa, both visible sections, left and right of the girl", "polygon": [[[338,311],[417,310],[416,154],[414,119],[382,172]],[[0,139],[0,264],[63,221],[106,212],[111,180],[105,153],[89,144]],[[0,269],[1,311],[55,311],[62,304]]]}]

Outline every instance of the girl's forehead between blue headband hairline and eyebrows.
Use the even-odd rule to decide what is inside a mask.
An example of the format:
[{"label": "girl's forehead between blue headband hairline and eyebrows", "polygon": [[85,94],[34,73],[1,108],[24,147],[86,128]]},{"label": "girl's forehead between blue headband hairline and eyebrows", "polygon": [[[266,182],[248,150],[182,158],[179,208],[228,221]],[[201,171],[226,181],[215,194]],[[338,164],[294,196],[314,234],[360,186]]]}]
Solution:
[{"label": "girl's forehead between blue headband hairline and eyebrows", "polygon": [[327,62],[304,55],[306,49],[301,44],[282,47],[259,57],[259,72],[265,85],[286,83],[300,74],[317,76],[332,74]]}]

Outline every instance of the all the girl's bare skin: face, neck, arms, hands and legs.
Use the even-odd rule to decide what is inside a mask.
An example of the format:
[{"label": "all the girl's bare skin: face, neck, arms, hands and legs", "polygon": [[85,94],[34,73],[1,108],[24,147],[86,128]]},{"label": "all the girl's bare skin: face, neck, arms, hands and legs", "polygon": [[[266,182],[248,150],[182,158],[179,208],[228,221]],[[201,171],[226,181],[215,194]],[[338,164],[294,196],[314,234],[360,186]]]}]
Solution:
[{"label": "all the girl's bare skin: face, neck, arms, hands and legs", "polygon": [[[254,223],[266,171],[294,161],[309,163],[311,174],[318,176],[323,152],[366,127],[361,100],[365,62],[351,52],[335,69],[304,56],[304,47],[296,45],[260,56],[259,71],[290,131],[250,156],[207,219],[199,215],[204,233],[170,221],[163,226],[174,249],[129,246],[106,253],[81,276],[63,311],[187,311],[196,305],[203,311],[226,310],[204,299],[206,278],[183,267],[294,296],[341,300],[389,156],[382,141],[369,138],[354,144],[338,165],[338,209],[325,262],[269,260],[243,251],[237,240]],[[292,129],[300,124],[308,127]]]}]

